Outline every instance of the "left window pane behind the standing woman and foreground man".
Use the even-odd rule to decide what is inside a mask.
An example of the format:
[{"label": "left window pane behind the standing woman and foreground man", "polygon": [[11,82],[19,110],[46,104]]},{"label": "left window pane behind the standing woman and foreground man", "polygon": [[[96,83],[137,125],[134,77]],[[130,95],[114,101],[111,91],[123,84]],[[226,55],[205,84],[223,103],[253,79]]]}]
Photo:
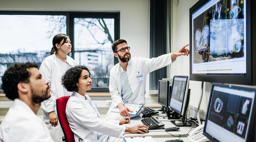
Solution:
[{"label": "left window pane behind the standing woman and foreground man", "polygon": [[52,39],[66,34],[64,15],[0,15],[0,90],[5,70],[14,63],[42,63],[50,55]]}]

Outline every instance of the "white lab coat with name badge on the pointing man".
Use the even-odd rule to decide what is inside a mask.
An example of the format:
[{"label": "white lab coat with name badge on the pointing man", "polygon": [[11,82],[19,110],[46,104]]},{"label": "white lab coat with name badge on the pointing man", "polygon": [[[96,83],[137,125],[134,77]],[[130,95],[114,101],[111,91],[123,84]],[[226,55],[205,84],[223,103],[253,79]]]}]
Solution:
[{"label": "white lab coat with name badge on the pointing man", "polygon": [[[175,59],[173,60],[175,61]],[[133,92],[133,98],[128,103],[144,104],[147,74],[172,63],[171,53],[156,58],[132,57],[126,68],[128,80]],[[120,63],[110,70],[109,91],[113,100],[108,113],[119,103],[123,103],[121,96]]]}]

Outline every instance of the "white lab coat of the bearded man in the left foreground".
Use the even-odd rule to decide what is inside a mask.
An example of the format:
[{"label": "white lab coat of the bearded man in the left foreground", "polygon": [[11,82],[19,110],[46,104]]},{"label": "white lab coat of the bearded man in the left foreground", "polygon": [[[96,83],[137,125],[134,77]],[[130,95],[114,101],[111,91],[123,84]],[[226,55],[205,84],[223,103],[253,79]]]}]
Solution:
[{"label": "white lab coat of the bearded man in the left foreground", "polygon": [[0,125],[1,142],[54,142],[45,123],[19,99],[15,99]]}]

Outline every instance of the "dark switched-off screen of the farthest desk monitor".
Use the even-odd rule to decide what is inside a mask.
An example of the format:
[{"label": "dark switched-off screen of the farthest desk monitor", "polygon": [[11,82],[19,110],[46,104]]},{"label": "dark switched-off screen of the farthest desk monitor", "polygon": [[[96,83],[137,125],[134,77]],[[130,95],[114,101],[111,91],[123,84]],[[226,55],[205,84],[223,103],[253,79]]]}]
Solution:
[{"label": "dark switched-off screen of the farthest desk monitor", "polygon": [[168,100],[169,100],[169,81],[159,80],[158,103],[164,107],[167,107]]}]

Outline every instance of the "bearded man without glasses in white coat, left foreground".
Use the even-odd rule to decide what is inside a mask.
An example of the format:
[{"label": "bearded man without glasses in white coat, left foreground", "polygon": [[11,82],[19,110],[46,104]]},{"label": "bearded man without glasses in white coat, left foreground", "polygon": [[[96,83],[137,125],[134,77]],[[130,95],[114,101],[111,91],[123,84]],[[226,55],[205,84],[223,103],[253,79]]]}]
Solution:
[{"label": "bearded man without glasses in white coat, left foreground", "polygon": [[16,63],[2,76],[5,96],[14,100],[0,125],[1,142],[54,142],[45,122],[36,113],[51,97],[48,81],[34,63]]}]

